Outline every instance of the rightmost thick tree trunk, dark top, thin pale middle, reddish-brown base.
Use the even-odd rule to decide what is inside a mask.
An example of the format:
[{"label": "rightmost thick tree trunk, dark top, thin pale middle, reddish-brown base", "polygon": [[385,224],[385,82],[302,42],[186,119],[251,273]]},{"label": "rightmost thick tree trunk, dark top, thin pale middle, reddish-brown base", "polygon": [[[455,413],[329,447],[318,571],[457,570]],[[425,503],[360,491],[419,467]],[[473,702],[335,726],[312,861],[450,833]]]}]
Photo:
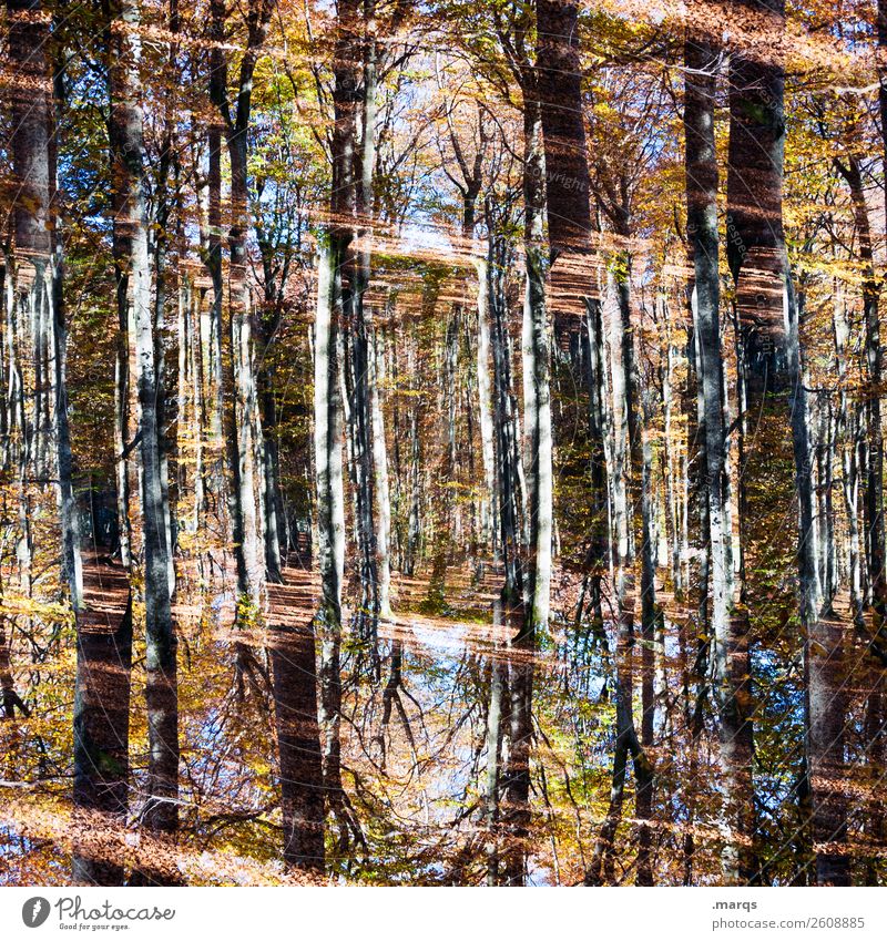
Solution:
[{"label": "rightmost thick tree trunk, dark top, thin pale middle, reddish-brown base", "polygon": [[[734,0],[747,13],[785,22],[783,0],[759,6]],[[807,747],[813,802],[813,839],[820,884],[846,884],[849,857],[847,797],[835,787],[843,770],[844,640],[839,622],[822,613],[815,540],[815,499],[799,340],[801,309],[782,225],[784,71],[781,63],[746,54],[731,60],[730,174],[727,177],[727,257],[736,282],[744,328],[748,408],[756,411],[767,393],[787,398],[795,487],[799,508],[798,590],[806,632],[805,662],[809,707]],[[765,419],[766,420],[766,417]]]}]

